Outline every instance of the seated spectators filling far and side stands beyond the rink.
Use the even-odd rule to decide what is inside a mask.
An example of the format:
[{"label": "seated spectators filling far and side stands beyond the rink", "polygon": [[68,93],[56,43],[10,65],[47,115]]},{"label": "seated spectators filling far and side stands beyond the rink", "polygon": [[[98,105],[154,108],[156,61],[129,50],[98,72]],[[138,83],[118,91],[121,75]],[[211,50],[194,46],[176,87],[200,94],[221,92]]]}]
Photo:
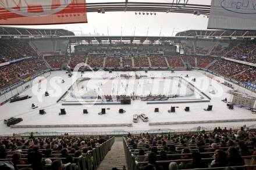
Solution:
[{"label": "seated spectators filling far and side stands beyond the rink", "polygon": [[[183,43],[184,44],[184,43]],[[193,43],[188,41],[186,44],[193,46]],[[225,46],[225,47],[224,47]],[[20,59],[27,56],[33,56],[33,59],[26,59],[20,62],[2,66],[0,69],[0,88],[11,85],[20,79],[29,77],[30,75],[37,73],[38,71],[47,69],[44,61],[37,57],[37,52],[29,45],[28,41],[1,41],[0,42],[1,53],[0,63],[10,62],[12,60]],[[191,48],[193,49],[193,48]],[[103,50],[103,49],[102,49]],[[108,49],[108,52],[116,52],[118,49]],[[120,48],[117,52],[127,53],[131,52],[155,52],[155,49],[151,48]],[[204,49],[205,51],[205,49]],[[208,53],[208,52],[204,52]],[[256,63],[256,46],[254,42],[230,42],[227,46],[226,42],[220,42],[211,49],[211,55],[225,56],[236,60],[243,60],[245,62]],[[122,60],[120,60],[122,57]],[[166,60],[165,60],[166,58]],[[134,66],[133,62],[134,61]],[[45,60],[52,68],[61,68],[63,63],[69,64],[70,67],[75,67],[78,63],[86,63],[91,67],[120,67],[129,64],[131,67],[184,67],[182,60],[185,63],[190,63],[191,67],[207,67],[210,63],[217,60],[208,69],[215,71],[221,75],[232,77],[240,82],[256,82],[255,72],[256,68],[248,66],[246,64],[240,64],[236,62],[230,62],[223,59],[216,59],[209,56],[161,56],[161,55],[149,55],[149,56],[105,56],[105,55],[73,55],[67,56],[47,56]],[[69,61],[70,60],[70,61]],[[105,61],[105,63],[104,63]],[[69,63],[70,62],[70,63]],[[166,63],[168,62],[168,63]],[[105,65],[104,65],[105,64]]]}]

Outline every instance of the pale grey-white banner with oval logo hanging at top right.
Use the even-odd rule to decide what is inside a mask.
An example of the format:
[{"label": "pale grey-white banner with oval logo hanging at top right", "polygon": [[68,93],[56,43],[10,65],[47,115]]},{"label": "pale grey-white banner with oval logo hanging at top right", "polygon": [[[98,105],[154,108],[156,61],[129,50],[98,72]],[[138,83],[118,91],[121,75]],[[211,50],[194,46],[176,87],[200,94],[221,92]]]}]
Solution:
[{"label": "pale grey-white banner with oval logo hanging at top right", "polygon": [[255,30],[256,0],[212,0],[208,29]]}]

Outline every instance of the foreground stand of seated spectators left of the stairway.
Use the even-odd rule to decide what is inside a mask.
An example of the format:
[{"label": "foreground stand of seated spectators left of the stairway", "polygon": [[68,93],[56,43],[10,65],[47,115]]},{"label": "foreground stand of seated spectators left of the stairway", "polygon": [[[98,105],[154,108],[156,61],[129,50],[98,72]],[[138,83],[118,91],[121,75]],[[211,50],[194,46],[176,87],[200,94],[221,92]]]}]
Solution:
[{"label": "foreground stand of seated spectators left of the stairway", "polygon": [[[0,164],[5,161],[15,169],[51,169],[52,162],[74,170],[97,169],[115,142],[113,136],[55,136],[50,138],[1,137]],[[67,165],[68,164],[68,165]],[[67,169],[67,168],[66,168]]]}]

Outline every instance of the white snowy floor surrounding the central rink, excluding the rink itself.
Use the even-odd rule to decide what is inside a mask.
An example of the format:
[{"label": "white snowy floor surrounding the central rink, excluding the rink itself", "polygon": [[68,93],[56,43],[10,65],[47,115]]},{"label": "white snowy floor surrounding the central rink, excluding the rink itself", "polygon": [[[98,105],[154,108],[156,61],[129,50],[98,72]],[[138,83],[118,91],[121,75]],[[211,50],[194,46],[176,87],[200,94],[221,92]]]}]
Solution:
[{"label": "white snowy floor surrounding the central rink, excluding the rink itself", "polygon": [[[113,72],[109,73],[84,73],[83,77],[115,77],[120,74],[135,74],[135,72]],[[136,74],[144,75],[144,71],[137,71]],[[189,75],[189,78],[184,78],[185,75]],[[192,78],[196,78],[194,83],[195,87],[205,92],[211,97],[209,103],[182,103],[182,104],[146,104],[140,100],[131,101],[131,105],[107,105],[107,106],[62,106],[61,102],[56,103],[59,97],[66,92],[66,90],[73,84],[77,77],[80,77],[80,73],[77,77],[68,78],[65,71],[54,71],[51,76],[41,82],[41,95],[38,95],[34,91],[37,91],[38,84],[35,81],[33,88],[23,92],[22,95],[32,96],[30,99],[22,100],[14,103],[6,103],[0,106],[0,134],[9,135],[13,132],[83,132],[83,131],[108,131],[114,129],[120,129],[125,131],[143,131],[148,129],[182,129],[193,128],[198,125],[204,127],[212,126],[240,126],[240,125],[253,125],[255,122],[225,122],[214,124],[187,124],[187,125],[158,125],[150,126],[148,122],[139,121],[133,123],[132,127],[92,127],[92,128],[10,128],[3,124],[3,120],[9,117],[22,117],[23,121],[17,125],[58,125],[58,124],[115,124],[115,123],[132,123],[133,114],[145,113],[148,115],[149,122],[172,122],[172,121],[201,121],[201,120],[230,120],[230,119],[245,119],[256,118],[255,114],[251,111],[244,110],[243,108],[234,107],[234,110],[229,110],[226,107],[226,103],[221,102],[222,99],[227,97],[229,100],[230,95],[227,93],[230,88],[221,83],[210,79],[204,75],[201,71],[148,71],[148,77],[169,77],[169,76],[182,76],[187,81],[191,82]],[[65,83],[61,83],[61,79],[65,80]],[[220,82],[223,82],[222,78],[215,77]],[[55,81],[54,81],[55,80]],[[58,82],[59,81],[59,82]],[[43,84],[46,84],[44,89]],[[152,83],[153,84],[153,83]],[[56,86],[57,85],[57,86]],[[149,89],[150,84],[147,84]],[[153,86],[153,85],[152,85]],[[216,91],[215,95],[209,93],[212,90]],[[238,88],[239,91],[244,92],[243,88]],[[44,92],[48,91],[50,96],[45,97]],[[254,93],[248,92],[250,95]],[[42,100],[40,100],[40,98]],[[37,109],[31,108],[31,103],[38,106]],[[203,108],[207,108],[208,104],[213,105],[212,111],[204,111]],[[170,106],[178,106],[176,113],[168,113]],[[189,106],[190,111],[185,112],[184,107]],[[159,107],[159,113],[154,113],[154,108]],[[38,110],[44,108],[47,114],[40,115]],[[58,115],[60,108],[65,108],[66,115]],[[88,109],[88,114],[83,114],[83,109]],[[105,115],[98,115],[101,108],[110,108],[106,110]],[[126,110],[126,113],[119,114],[119,108]]]}]

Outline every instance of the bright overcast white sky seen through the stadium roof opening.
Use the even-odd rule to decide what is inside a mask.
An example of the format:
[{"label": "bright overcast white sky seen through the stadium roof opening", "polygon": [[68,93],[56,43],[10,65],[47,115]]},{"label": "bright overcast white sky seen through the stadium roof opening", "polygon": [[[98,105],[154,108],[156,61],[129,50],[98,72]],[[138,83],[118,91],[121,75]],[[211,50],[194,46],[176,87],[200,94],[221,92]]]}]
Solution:
[{"label": "bright overcast white sky seen through the stadium roof opening", "polygon": [[[123,2],[125,0],[87,0],[91,2]],[[130,0],[129,2],[166,2],[173,0]],[[175,0],[176,2],[176,0]],[[184,0],[180,0],[184,2]],[[189,0],[189,3],[211,5],[211,0]],[[88,23],[63,24],[51,26],[24,26],[29,28],[63,28],[73,31],[76,35],[98,34],[104,35],[147,35],[148,36],[174,36],[177,32],[185,30],[207,29],[208,18],[203,15],[183,13],[157,13],[157,15],[135,15],[134,12],[105,12],[87,13]],[[122,29],[121,29],[122,27]],[[173,31],[174,29],[174,31]]]}]

